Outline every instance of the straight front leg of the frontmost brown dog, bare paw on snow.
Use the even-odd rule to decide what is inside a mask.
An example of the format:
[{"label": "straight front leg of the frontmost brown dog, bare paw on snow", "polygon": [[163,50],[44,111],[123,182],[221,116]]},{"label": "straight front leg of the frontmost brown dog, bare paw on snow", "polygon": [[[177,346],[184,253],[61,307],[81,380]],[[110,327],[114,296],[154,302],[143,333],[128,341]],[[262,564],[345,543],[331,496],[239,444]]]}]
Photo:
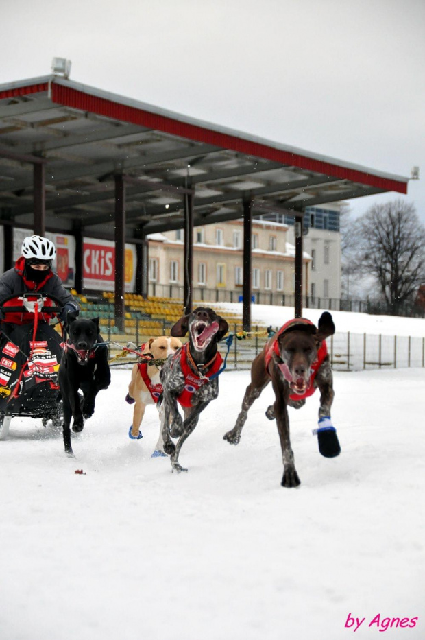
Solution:
[{"label": "straight front leg of the frontmost brown dog, bare paw on snow", "polygon": [[291,488],[300,484],[300,478],[295,469],[295,460],[289,438],[289,416],[287,408],[289,390],[285,389],[284,382],[280,377],[280,372],[276,372],[276,369],[272,373],[271,383],[276,397],[274,401],[274,414],[278,425],[280,447],[282,448],[283,477],[280,484]]}]

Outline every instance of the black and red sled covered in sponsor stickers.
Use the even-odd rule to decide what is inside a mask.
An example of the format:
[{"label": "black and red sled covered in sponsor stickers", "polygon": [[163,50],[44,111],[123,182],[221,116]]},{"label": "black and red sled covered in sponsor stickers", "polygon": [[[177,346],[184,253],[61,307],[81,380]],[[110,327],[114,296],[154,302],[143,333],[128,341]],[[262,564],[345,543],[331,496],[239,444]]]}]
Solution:
[{"label": "black and red sled covered in sponsor stickers", "polygon": [[26,292],[3,300],[0,310],[0,440],[7,438],[14,416],[62,425],[62,336],[49,324],[62,311],[60,301],[51,294]]}]

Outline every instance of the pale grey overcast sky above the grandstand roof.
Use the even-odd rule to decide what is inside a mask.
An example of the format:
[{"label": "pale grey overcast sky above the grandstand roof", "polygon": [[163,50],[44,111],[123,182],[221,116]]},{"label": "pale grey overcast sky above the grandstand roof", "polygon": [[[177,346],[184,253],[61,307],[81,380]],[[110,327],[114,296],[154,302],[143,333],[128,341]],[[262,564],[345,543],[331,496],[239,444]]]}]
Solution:
[{"label": "pale grey overcast sky above the grandstand roof", "polygon": [[71,80],[104,91],[399,176],[416,165],[425,224],[425,0],[0,0],[0,23],[0,83],[69,58]]}]

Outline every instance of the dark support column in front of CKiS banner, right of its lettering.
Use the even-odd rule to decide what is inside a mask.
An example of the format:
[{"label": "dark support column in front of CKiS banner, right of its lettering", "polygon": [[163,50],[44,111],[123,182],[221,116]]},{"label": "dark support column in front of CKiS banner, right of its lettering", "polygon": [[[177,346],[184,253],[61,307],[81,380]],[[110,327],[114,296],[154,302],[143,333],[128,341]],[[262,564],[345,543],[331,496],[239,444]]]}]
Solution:
[{"label": "dark support column in front of CKiS banner, right of its lettering", "polygon": [[124,330],[125,185],[115,176],[115,326]]}]

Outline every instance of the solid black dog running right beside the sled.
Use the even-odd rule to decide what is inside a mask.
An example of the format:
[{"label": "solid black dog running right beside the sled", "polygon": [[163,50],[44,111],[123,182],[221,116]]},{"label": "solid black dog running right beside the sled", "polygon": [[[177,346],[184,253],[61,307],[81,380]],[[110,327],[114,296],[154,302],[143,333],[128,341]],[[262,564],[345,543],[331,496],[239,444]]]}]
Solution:
[{"label": "solid black dog running right beside the sled", "polygon": [[[60,394],[64,405],[65,452],[73,455],[69,426],[74,418],[73,431],[82,431],[84,421],[93,416],[95,399],[101,389],[110,385],[108,348],[99,334],[99,318],[78,318],[77,312],[66,316],[69,340],[59,368]],[[78,393],[81,389],[83,397]]]}]

